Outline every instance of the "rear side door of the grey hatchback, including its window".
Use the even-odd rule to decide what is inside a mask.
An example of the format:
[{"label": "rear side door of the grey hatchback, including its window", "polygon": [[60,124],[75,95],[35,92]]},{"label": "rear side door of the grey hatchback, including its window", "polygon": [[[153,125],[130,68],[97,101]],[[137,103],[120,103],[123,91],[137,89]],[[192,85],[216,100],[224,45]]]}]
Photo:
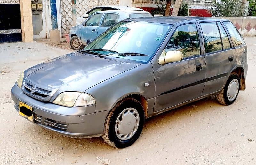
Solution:
[{"label": "rear side door of the grey hatchback, including its window", "polygon": [[236,64],[236,50],[220,21],[200,21],[199,24],[206,63],[206,83],[202,95],[207,95],[222,89],[228,73]]}]

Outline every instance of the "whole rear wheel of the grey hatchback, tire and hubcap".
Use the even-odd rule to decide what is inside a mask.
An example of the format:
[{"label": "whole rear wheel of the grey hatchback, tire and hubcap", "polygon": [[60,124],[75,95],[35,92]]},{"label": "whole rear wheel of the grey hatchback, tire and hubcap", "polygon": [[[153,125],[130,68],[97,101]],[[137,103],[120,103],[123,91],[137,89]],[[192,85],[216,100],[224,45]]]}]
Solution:
[{"label": "whole rear wheel of the grey hatchback, tire and hubcap", "polygon": [[230,105],[236,101],[236,98],[239,93],[239,80],[239,76],[236,73],[232,73],[229,76],[225,86],[223,87],[221,92],[217,94],[217,100],[219,101],[220,104]]}]

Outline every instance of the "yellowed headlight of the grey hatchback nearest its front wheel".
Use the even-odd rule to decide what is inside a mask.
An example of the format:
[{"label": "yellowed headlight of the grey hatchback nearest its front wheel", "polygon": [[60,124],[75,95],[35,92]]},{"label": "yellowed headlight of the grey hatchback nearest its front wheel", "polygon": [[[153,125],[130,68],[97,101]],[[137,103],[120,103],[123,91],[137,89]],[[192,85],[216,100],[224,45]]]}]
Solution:
[{"label": "yellowed headlight of the grey hatchback nearest its front wheel", "polygon": [[94,98],[82,92],[63,92],[59,94],[53,101],[54,104],[63,105],[66,107],[86,106],[95,104]]}]

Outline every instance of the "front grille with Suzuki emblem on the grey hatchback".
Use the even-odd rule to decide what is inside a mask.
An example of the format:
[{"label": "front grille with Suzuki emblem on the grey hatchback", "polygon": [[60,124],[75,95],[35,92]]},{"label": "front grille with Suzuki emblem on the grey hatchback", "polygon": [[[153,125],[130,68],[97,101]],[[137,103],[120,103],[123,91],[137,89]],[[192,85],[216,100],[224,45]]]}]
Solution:
[{"label": "front grille with Suzuki emblem on the grey hatchback", "polygon": [[35,84],[33,84],[32,82],[30,82],[29,80],[25,79],[22,85],[22,90],[23,93],[27,94],[30,97],[33,97],[37,100],[41,100],[41,101],[49,101],[52,98],[52,95],[58,90],[50,90],[50,89],[42,89],[39,87],[36,87],[35,92],[32,94],[31,93],[31,88],[35,86]]}]

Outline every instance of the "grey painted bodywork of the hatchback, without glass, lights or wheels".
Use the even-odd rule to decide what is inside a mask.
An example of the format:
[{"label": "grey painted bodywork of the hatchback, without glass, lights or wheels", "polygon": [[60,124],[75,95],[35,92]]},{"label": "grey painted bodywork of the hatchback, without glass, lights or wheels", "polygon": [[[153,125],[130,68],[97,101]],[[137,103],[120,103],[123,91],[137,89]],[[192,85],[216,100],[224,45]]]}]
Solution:
[{"label": "grey painted bodywork of the hatchback, without glass, lights or wheels", "polygon": [[[148,18],[145,19],[148,20]],[[152,18],[151,21],[154,19],[156,18]],[[208,20],[218,19],[205,21]],[[68,128],[68,132],[57,132],[67,136],[74,133],[75,137],[84,137],[87,135],[99,136],[103,131],[109,110],[118,101],[132,94],[140,95],[147,100],[146,117],[216,94],[235,68],[242,67],[246,76],[248,68],[246,45],[205,54],[203,38],[199,31],[201,50],[199,56],[164,65],[158,64],[158,58],[176,27],[191,22],[195,22],[199,27],[197,21],[193,19],[177,21],[156,51],[155,56],[146,64],[71,53],[36,65],[24,72],[24,78],[33,81],[38,87],[58,88],[59,90],[49,102],[43,102],[27,96],[15,84],[11,90],[12,99],[16,104],[20,100],[31,105],[37,114],[72,125]],[[227,55],[233,55],[234,60],[227,62]],[[196,71],[195,68],[198,64],[202,65],[200,71]],[[227,76],[223,76],[223,73],[227,73]],[[221,77],[218,78],[220,75]],[[212,77],[215,79],[209,79]],[[146,82],[149,83],[149,86],[144,85]],[[57,95],[64,91],[91,94],[95,98],[96,104],[70,108],[52,104],[51,102]],[[95,127],[84,127],[85,124],[89,124],[86,123],[87,120],[91,122],[90,124],[96,123]],[[74,123],[76,124],[73,125]]]}]

